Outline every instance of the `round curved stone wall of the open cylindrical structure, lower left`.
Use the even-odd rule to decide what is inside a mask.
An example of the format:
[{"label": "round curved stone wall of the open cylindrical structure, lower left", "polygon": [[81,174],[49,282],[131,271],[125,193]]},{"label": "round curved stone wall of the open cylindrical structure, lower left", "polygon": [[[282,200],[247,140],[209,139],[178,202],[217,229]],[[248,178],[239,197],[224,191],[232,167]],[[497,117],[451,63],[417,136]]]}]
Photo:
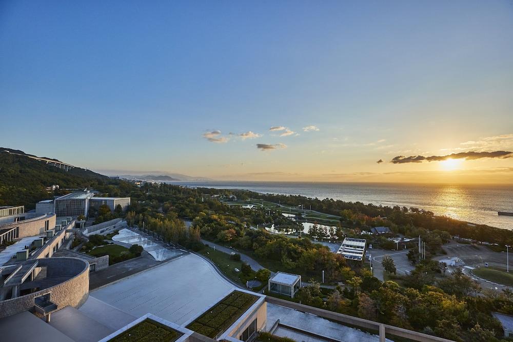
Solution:
[{"label": "round curved stone wall of the open cylindrical structure, lower left", "polygon": [[37,259],[37,267],[46,267],[48,277],[71,277],[60,284],[8,300],[0,301],[0,318],[23,311],[33,311],[34,298],[50,293],[50,300],[63,309],[66,306],[80,307],[89,295],[89,264],[87,261],[70,258]]}]

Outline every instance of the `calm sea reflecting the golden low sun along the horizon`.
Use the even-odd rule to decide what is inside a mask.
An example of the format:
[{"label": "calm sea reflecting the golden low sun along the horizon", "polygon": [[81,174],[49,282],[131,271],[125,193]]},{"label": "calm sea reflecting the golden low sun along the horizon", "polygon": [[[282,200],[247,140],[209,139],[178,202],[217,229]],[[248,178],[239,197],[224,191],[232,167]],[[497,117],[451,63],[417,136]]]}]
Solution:
[{"label": "calm sea reflecting the golden low sun along the horizon", "polygon": [[333,198],[432,211],[473,224],[513,229],[513,185],[391,184],[327,182],[166,182],[188,187],[246,189],[259,193]]}]

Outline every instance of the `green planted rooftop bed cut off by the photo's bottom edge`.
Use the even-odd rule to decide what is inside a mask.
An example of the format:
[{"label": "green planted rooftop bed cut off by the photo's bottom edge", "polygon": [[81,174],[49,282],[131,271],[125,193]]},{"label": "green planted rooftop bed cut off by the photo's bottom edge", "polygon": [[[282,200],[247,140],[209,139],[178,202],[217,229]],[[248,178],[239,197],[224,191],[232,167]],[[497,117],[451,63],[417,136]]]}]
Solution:
[{"label": "green planted rooftop bed cut off by the photo's bottom edge", "polygon": [[152,319],[145,319],[127,331],[109,339],[109,342],[173,342],[181,335],[181,333]]}]

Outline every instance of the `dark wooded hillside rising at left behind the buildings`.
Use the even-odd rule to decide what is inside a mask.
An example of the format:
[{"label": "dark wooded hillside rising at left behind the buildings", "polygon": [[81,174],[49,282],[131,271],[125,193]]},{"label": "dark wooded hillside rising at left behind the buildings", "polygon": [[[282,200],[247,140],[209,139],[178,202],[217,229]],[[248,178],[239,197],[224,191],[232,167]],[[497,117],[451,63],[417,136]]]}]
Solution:
[{"label": "dark wooded hillside rising at left behind the buildings", "polygon": [[[15,153],[19,152],[22,151]],[[61,190],[56,193],[47,192],[46,187],[53,184],[59,185]],[[0,149],[0,206],[25,205],[26,210],[30,210],[42,199],[66,193],[63,190],[66,188],[90,187],[117,195],[120,192],[120,185],[119,180],[109,179],[99,173],[77,167],[64,171],[24,155],[6,153]]]}]

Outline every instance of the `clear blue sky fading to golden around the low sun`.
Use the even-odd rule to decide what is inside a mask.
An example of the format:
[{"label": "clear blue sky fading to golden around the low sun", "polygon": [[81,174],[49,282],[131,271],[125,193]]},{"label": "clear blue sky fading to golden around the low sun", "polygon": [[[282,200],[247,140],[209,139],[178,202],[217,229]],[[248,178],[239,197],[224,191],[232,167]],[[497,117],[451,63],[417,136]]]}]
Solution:
[{"label": "clear blue sky fading to golden around the low sun", "polygon": [[513,2],[0,0],[0,147],[109,175],[511,184]]}]

